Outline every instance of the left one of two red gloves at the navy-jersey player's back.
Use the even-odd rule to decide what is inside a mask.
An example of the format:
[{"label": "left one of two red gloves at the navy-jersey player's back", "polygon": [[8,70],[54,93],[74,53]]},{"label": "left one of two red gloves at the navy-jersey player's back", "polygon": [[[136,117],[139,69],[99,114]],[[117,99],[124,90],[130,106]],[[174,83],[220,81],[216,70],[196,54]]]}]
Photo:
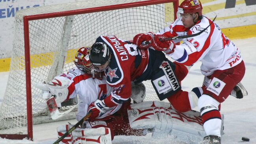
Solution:
[{"label": "left one of two red gloves at the navy-jersey player's back", "polygon": [[136,36],[134,36],[132,43],[137,45],[139,49],[144,50],[148,49],[151,46],[153,38],[154,34],[152,32],[148,32],[147,34],[137,34]]}]

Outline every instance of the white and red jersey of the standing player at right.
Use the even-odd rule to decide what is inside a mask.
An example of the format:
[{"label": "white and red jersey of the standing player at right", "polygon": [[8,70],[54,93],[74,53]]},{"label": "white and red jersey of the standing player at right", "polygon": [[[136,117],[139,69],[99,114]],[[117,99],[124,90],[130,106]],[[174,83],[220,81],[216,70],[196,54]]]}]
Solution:
[{"label": "white and red jersey of the standing player at right", "polygon": [[[185,28],[181,17],[157,34],[166,37],[196,34],[212,21],[205,16],[190,29]],[[174,41],[175,43],[178,41]],[[225,70],[238,65],[241,61],[239,49],[221,32],[219,26],[211,24],[202,34],[183,40],[181,45],[176,45],[174,52],[166,54],[178,63],[193,65],[201,61],[201,72],[205,76],[211,75],[215,70]]]}]

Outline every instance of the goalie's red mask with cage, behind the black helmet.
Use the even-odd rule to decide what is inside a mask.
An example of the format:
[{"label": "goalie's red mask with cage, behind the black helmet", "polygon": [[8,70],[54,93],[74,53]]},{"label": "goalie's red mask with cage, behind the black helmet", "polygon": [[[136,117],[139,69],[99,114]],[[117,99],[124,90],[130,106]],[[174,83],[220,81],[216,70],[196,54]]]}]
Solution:
[{"label": "goalie's red mask with cage, behind the black helmet", "polygon": [[92,77],[101,79],[102,73],[95,72],[93,65],[89,60],[89,47],[82,47],[76,52],[74,63],[76,67],[84,73],[91,74]]}]

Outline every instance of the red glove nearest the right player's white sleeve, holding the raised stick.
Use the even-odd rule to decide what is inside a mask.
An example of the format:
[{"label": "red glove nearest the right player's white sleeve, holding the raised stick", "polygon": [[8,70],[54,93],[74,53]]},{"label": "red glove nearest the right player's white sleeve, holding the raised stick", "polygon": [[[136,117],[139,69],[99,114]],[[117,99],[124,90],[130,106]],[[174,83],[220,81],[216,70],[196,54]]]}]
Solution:
[{"label": "red glove nearest the right player's white sleeve, holding the raised stick", "polygon": [[160,41],[164,38],[165,38],[165,36],[163,36],[163,35],[155,34],[153,42],[152,42],[152,47],[155,50],[163,51],[167,54],[173,53],[174,48],[176,47],[175,43],[173,41]]}]

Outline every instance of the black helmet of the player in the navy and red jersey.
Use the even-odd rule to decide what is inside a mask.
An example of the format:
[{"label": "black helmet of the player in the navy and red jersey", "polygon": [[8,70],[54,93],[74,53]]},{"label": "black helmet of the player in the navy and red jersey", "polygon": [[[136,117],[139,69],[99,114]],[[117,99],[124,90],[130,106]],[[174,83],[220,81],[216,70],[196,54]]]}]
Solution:
[{"label": "black helmet of the player in the navy and red jersey", "polygon": [[97,42],[91,46],[89,59],[93,65],[104,65],[109,61],[110,51],[106,43]]}]

